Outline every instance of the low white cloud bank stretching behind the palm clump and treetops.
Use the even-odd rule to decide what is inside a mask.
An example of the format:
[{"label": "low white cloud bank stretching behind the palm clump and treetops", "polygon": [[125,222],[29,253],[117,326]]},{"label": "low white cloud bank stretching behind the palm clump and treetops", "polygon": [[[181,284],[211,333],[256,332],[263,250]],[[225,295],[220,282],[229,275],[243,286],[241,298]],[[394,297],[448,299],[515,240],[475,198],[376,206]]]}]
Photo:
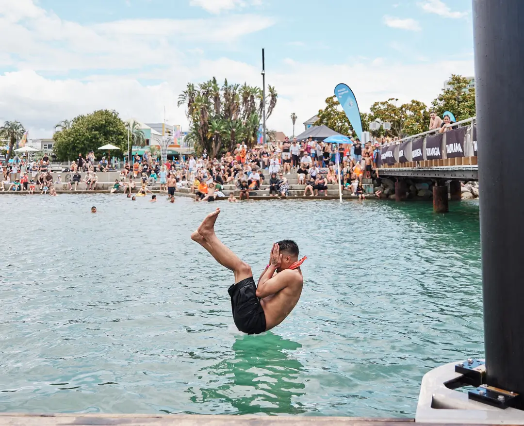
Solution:
[{"label": "low white cloud bank stretching behind the palm clump and treetops", "polygon": [[[473,61],[442,61],[419,64],[373,64],[366,60],[352,65],[316,64],[288,61],[286,67],[266,74],[266,84],[274,85],[279,100],[268,127],[292,133],[291,113],[299,125],[324,106],[335,85],[345,82],[355,92],[363,112],[375,101],[397,97],[400,102],[418,99],[426,104],[441,92],[451,73],[473,75]],[[89,113],[97,108],[114,108],[121,117],[137,117],[143,122],[158,122],[166,106],[170,123],[188,128],[183,108],[177,107],[178,95],[188,81],[201,82],[215,76],[219,82],[261,85],[257,64],[202,59],[194,67],[151,70],[162,83],[147,85],[133,77],[98,76],[91,81],[44,78],[34,71],[0,75],[0,121],[19,119],[30,130],[30,137],[51,136],[54,124],[64,118]],[[148,77],[147,75],[142,77]],[[314,84],[311,84],[314,82]]]}]

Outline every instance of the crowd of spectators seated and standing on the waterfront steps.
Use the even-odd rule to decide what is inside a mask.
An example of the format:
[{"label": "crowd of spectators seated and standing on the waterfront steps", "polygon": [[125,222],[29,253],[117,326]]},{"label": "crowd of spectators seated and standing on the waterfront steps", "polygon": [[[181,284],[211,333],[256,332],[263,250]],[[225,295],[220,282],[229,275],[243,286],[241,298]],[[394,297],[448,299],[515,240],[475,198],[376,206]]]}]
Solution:
[{"label": "crowd of spectators seated and standing on the waterfront steps", "polygon": [[[288,177],[293,172],[297,175],[297,184],[303,185],[300,189],[304,196],[327,195],[328,185],[337,188],[339,182],[342,189],[360,195],[362,180],[373,177],[380,146],[388,141],[383,138],[362,144],[352,139],[351,144],[335,145],[312,137],[301,141],[285,138],[250,149],[245,144],[237,144],[232,152],[226,152],[221,158],[211,158],[204,150],[198,157],[188,156],[163,164],[146,151],[143,156],[135,155],[132,161],[124,162],[110,191],[150,192],[159,182],[160,190],[170,195],[185,187],[195,199],[213,201],[224,196],[224,185],[228,184],[234,185],[235,193],[242,200],[249,199],[250,192],[266,184],[270,196],[285,197],[290,190]],[[101,181],[97,172],[114,169],[105,157],[97,161],[93,151],[85,157],[79,154],[78,159],[62,171],[64,181],[61,174],[53,180],[49,165],[47,156],[30,164],[17,159],[2,169],[2,190],[55,193],[57,184],[62,185],[60,189],[77,191],[80,183],[85,183],[87,190],[95,190]],[[85,173],[83,178],[81,171]],[[19,179],[10,179],[17,173]]]}]

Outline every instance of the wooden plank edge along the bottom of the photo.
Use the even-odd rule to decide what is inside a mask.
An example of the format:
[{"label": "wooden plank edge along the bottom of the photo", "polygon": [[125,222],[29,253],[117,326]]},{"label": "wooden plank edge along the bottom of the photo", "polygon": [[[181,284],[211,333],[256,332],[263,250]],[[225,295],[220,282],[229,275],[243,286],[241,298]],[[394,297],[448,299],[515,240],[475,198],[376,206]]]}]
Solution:
[{"label": "wooden plank edge along the bottom of the photo", "polygon": [[[0,426],[413,426],[414,419],[377,419],[358,417],[285,417],[285,416],[198,416],[155,414],[31,414],[0,413]],[[439,423],[417,423],[439,426]],[[466,426],[446,424],[446,426]],[[472,426],[467,425],[467,426]]]}]

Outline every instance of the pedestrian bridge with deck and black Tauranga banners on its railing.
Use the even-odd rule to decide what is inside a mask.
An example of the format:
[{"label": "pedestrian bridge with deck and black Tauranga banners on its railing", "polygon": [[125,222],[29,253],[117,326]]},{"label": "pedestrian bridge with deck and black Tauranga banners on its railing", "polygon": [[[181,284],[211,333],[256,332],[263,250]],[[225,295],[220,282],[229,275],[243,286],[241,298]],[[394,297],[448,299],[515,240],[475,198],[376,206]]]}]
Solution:
[{"label": "pedestrian bridge with deck and black Tauranga banners on its railing", "polygon": [[378,176],[478,180],[476,117],[383,145]]}]

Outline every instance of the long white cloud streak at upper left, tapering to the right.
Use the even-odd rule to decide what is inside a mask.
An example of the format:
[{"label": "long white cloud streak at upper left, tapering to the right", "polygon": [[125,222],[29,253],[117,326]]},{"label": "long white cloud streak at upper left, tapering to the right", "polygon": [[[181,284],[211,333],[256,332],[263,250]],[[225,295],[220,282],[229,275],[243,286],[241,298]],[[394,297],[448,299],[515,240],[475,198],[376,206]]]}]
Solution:
[{"label": "long white cloud streak at upper left, tapering to the right", "polygon": [[31,0],[0,0],[0,63],[54,72],[137,69],[142,64],[172,63],[172,58],[166,59],[166,52],[182,58],[188,41],[229,46],[274,23],[269,17],[244,14],[80,25],[47,12]]}]

